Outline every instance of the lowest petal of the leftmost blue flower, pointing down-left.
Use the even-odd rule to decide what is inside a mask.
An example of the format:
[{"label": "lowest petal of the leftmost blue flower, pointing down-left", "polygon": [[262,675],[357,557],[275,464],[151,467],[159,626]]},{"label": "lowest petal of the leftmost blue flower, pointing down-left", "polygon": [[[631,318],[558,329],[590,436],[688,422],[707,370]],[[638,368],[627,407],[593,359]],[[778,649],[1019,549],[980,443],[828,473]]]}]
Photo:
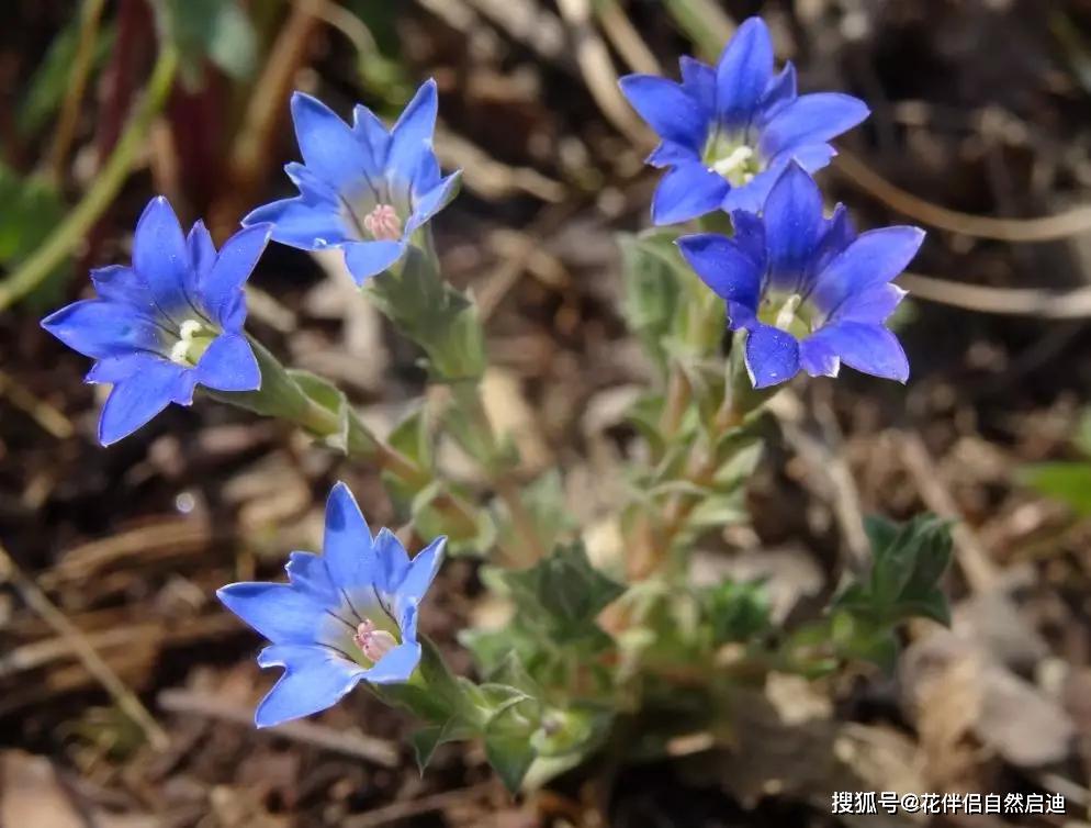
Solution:
[{"label": "lowest petal of the leftmost blue flower, pointing down-left", "polygon": [[[192,400],[193,378],[166,359],[148,360],[138,374],[113,387],[99,417],[99,443],[109,446],[145,425],[171,402]],[[187,399],[189,398],[189,399]]]}]

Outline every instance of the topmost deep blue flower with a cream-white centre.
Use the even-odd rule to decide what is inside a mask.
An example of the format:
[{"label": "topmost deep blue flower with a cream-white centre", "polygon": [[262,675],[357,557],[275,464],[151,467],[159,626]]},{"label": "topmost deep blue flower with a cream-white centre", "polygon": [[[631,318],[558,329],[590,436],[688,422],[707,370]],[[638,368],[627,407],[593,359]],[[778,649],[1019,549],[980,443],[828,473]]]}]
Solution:
[{"label": "topmost deep blue flower with a cream-white centre", "polygon": [[835,155],[828,143],[868,115],[863,101],[799,96],[789,63],[773,74],[773,41],[758,18],[745,21],[713,68],[682,58],[682,83],[630,75],[621,90],[663,139],[649,156],[666,167],[652,221],[674,224],[718,210],[757,212],[791,159],[813,172]]}]

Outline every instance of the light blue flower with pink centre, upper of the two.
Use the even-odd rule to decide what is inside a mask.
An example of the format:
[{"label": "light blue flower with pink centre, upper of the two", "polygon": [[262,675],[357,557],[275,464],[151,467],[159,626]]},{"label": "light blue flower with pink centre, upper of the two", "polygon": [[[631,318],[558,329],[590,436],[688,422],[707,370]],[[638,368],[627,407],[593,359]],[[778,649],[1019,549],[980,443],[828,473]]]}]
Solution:
[{"label": "light blue flower with pink centre, upper of the two", "polygon": [[436,109],[429,80],[387,132],[365,107],[356,107],[349,126],[296,92],[292,119],[305,164],[285,170],[300,194],[258,208],[244,226],[269,222],[274,240],[303,250],[344,249],[358,284],[386,270],[458,189],[460,174],[442,178],[432,152]]}]

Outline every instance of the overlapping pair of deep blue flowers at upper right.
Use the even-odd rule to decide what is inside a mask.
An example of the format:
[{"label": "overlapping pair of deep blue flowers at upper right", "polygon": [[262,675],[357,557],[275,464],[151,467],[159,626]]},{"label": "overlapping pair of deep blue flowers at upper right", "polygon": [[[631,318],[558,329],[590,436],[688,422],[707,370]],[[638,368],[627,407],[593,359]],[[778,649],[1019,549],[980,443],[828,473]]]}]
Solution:
[{"label": "overlapping pair of deep blue flowers at upper right", "polygon": [[791,64],[774,75],[765,23],[744,22],[713,69],[682,58],[682,83],[631,75],[621,89],[662,143],[667,167],[652,201],[655,224],[723,210],[733,237],[678,239],[697,275],[727,302],[728,325],[747,333],[755,388],[800,369],[836,377],[841,365],[904,382],[909,361],[885,326],[904,295],[891,284],[924,234],[887,227],[859,236],[840,204],[826,219],[810,174],[834,156],[828,143],[867,118],[846,94],[800,96]]}]

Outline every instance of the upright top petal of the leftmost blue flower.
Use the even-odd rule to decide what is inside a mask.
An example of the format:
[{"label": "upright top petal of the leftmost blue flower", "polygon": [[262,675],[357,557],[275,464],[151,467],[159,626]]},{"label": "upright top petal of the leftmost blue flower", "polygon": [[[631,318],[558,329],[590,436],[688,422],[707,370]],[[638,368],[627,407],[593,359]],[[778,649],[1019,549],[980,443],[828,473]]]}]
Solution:
[{"label": "upright top petal of the leftmost blue flower", "polygon": [[162,195],[148,202],[133,237],[133,267],[147,283],[156,305],[175,322],[192,315],[185,292],[190,253],[170,203]]}]

